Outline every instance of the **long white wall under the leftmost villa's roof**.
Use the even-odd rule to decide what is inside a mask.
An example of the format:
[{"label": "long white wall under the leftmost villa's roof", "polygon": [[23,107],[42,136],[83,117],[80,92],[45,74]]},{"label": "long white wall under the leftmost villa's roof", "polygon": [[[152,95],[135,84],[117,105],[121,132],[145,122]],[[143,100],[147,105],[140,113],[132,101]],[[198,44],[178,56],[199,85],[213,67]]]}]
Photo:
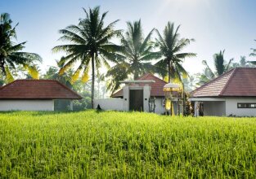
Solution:
[{"label": "long white wall under the leftmost villa's roof", "polygon": [[0,111],[54,111],[52,99],[0,99]]}]

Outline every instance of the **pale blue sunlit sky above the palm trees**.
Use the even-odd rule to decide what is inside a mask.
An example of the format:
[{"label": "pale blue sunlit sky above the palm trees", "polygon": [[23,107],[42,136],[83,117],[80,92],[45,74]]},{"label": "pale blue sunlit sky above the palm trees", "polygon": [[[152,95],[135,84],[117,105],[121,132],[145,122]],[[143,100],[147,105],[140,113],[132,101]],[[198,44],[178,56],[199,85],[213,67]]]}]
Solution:
[{"label": "pale blue sunlit sky above the palm trees", "polygon": [[[0,13],[11,15],[16,28],[17,42],[27,41],[25,50],[43,58],[42,72],[56,65],[56,59],[64,54],[53,54],[52,48],[65,44],[58,41],[58,30],[70,24],[78,24],[88,9],[101,7],[101,13],[109,11],[106,24],[119,20],[116,29],[126,29],[127,21],[141,19],[146,36],[152,28],[163,32],[168,21],[181,25],[181,37],[194,38],[184,52],[193,52],[195,58],[185,59],[187,72],[202,72],[202,60],[213,68],[213,54],[225,50],[226,60],[249,57],[256,48],[255,0],[0,0]],[[156,37],[154,35],[154,37]]]}]

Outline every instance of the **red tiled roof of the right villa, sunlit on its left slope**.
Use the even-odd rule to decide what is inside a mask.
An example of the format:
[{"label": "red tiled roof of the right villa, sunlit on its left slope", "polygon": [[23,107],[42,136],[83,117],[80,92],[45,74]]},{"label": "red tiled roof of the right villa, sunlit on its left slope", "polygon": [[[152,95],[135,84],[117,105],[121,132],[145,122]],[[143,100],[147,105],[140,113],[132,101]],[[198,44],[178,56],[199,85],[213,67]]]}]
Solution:
[{"label": "red tiled roof of the right villa, sunlit on its left slope", "polygon": [[191,97],[255,97],[256,68],[235,68],[191,92]]}]

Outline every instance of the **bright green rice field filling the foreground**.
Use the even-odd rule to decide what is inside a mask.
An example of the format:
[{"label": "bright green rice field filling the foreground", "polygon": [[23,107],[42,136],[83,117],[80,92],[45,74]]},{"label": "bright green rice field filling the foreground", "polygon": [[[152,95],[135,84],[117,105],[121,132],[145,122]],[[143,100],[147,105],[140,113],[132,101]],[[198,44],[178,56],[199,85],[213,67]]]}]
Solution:
[{"label": "bright green rice field filling the foreground", "polygon": [[0,178],[255,178],[256,118],[0,113]]}]

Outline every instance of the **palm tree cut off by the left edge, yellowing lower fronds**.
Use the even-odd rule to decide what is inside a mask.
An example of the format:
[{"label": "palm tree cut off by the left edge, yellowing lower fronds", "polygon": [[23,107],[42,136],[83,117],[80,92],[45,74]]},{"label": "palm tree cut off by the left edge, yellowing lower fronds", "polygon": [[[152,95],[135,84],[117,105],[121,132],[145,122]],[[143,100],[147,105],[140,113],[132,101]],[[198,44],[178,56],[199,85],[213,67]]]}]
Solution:
[{"label": "palm tree cut off by the left edge, yellowing lower fronds", "polygon": [[37,54],[21,52],[25,48],[25,41],[16,44],[16,26],[12,28],[10,15],[3,13],[0,15],[0,71],[7,82],[14,80],[12,72],[16,72],[17,66],[21,65],[28,70],[29,75],[38,78],[38,71],[34,62],[41,62],[41,57]]}]

